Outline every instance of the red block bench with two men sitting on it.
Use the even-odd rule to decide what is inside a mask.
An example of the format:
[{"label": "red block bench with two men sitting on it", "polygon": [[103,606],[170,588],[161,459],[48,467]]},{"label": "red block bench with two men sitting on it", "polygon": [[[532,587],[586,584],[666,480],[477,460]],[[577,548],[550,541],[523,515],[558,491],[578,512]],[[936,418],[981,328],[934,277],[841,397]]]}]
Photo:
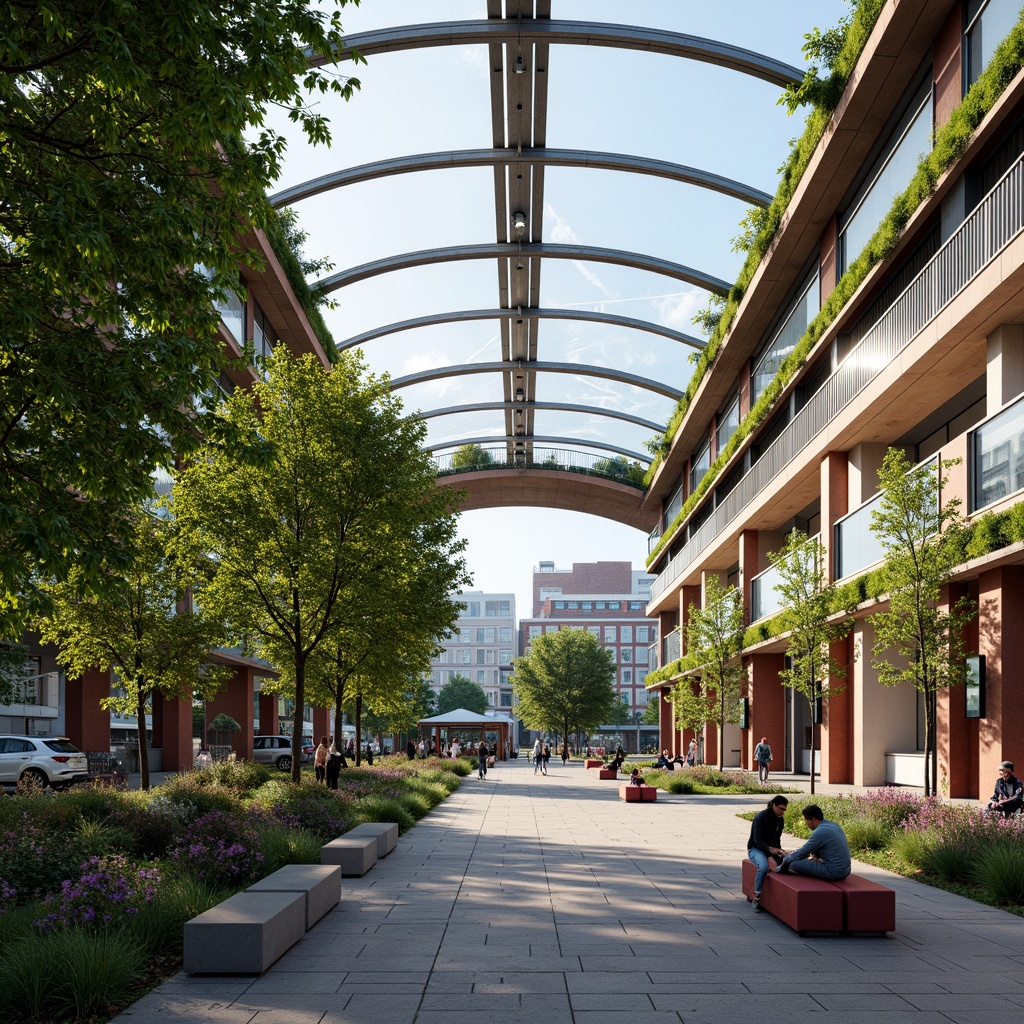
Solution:
[{"label": "red block bench with two men sitting on it", "polygon": [[[757,867],[743,861],[742,889],[754,898]],[[892,932],[896,929],[896,893],[887,886],[851,874],[842,882],[769,871],[761,906],[795,932]]]}]

